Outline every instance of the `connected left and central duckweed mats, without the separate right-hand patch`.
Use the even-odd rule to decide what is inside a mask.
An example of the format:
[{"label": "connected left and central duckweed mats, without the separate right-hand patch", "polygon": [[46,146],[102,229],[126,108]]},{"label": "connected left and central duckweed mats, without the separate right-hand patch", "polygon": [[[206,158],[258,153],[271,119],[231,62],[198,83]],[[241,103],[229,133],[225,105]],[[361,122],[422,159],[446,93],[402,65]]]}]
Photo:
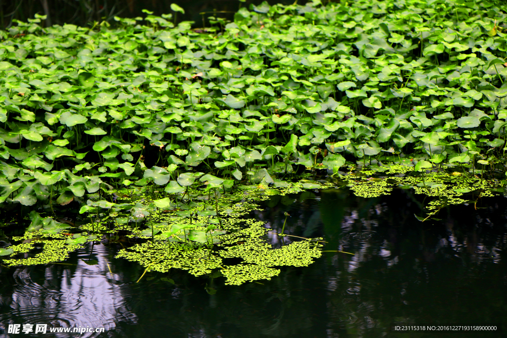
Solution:
[{"label": "connected left and central duckweed mats, without the separate right-hand patch", "polygon": [[[320,239],[303,239],[278,249],[273,248],[264,238],[270,231],[264,227],[264,222],[248,215],[252,210],[262,210],[255,201],[305,189],[325,189],[333,186],[332,183],[274,181],[272,188],[262,184],[238,186],[237,192],[227,194],[225,189],[218,191],[221,181],[217,177],[205,175],[199,181],[207,182],[208,185],[205,189],[200,189],[199,183],[192,181],[179,194],[193,198],[189,197],[186,204],[178,207],[167,197],[154,200],[153,197],[157,196],[154,190],[147,190],[149,193],[141,196],[140,201],[143,202],[135,204],[116,204],[104,200],[90,202],[81,208],[81,212],[97,216],[97,219],[79,228],[55,222],[51,217],[42,218],[37,212],[32,212],[29,230],[23,237],[13,238],[15,241],[30,242],[9,247],[10,251],[3,253],[6,256],[5,262],[9,266],[15,266],[63,260],[69,252],[82,247],[86,242],[99,240],[98,236],[88,235],[91,229],[95,230],[94,234],[105,236],[128,230],[127,237],[137,241],[137,244],[120,250],[116,257],[138,262],[145,267],[145,273],[149,270],[167,272],[174,268],[201,276],[220,271],[227,277],[226,284],[234,285],[270,279],[280,272],[273,267],[308,266],[314,258],[320,256]],[[213,184],[215,193],[218,194],[215,195],[215,201],[207,199]],[[129,200],[131,198],[128,196]],[[176,200],[175,198],[174,201]],[[105,213],[99,211],[107,208],[114,209],[116,213],[117,222],[112,228],[106,225],[111,213],[105,216]],[[154,221],[155,217],[157,222]],[[144,219],[144,223],[139,223],[139,219]],[[74,234],[64,233],[70,230]],[[29,253],[37,246],[42,246],[41,253],[30,258],[16,258],[17,254]],[[241,258],[242,262],[239,265],[227,265],[223,258]]]}]

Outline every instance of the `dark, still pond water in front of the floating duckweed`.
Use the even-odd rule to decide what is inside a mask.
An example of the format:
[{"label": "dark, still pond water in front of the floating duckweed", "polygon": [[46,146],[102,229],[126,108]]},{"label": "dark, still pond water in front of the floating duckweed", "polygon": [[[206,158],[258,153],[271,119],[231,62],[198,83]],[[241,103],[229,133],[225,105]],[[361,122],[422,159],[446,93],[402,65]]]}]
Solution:
[{"label": "dark, still pond water in front of the floating duckweed", "polygon": [[[224,285],[223,277],[147,273],[114,256],[125,243],[88,245],[64,264],[1,267],[0,337],[9,324],[104,327],[55,337],[501,337],[507,332],[507,199],[442,210],[417,221],[407,191],[356,198],[346,191],[274,198],[257,216],[285,232],[323,237],[306,268],[272,280]],[[277,241],[277,238],[268,238]],[[276,243],[275,243],[276,244]],[[111,270],[111,271],[110,271]],[[211,278],[216,277],[216,278]],[[160,278],[170,278],[175,284]],[[391,324],[496,324],[503,331],[391,331]],[[22,327],[22,326],[21,326]],[[1,331],[0,331],[1,332]],[[30,336],[29,334],[26,336]]]}]

